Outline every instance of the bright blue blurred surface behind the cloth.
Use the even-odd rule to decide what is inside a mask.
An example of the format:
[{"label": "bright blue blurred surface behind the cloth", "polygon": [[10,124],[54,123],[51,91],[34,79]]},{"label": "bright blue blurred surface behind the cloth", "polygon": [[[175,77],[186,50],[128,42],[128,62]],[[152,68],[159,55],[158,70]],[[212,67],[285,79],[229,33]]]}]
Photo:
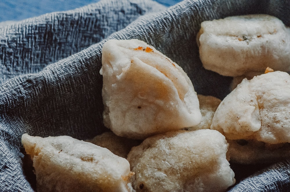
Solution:
[{"label": "bright blue blurred surface behind the cloth", "polygon": [[[66,11],[96,3],[99,0],[0,0],[0,22],[19,21],[55,11]],[[165,6],[182,0],[156,0]]]}]

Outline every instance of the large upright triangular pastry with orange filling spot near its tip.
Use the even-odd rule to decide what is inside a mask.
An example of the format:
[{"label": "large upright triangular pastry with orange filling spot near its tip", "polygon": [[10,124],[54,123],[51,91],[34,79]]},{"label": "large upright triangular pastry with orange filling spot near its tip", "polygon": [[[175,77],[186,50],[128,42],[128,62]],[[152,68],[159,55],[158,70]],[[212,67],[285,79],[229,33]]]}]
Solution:
[{"label": "large upright triangular pastry with orange filling spot near its tip", "polygon": [[143,41],[108,40],[100,73],[104,125],[118,136],[145,139],[201,120],[189,77]]}]

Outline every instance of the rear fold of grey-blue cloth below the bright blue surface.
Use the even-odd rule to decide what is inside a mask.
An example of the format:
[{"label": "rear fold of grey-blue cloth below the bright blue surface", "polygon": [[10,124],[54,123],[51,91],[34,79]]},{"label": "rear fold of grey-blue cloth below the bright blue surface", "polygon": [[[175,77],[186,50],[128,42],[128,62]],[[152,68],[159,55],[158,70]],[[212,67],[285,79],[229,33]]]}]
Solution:
[{"label": "rear fold of grey-blue cloth below the bright blue surface", "polygon": [[154,1],[99,1],[0,25],[0,83],[37,73],[119,31],[139,16],[165,10]]}]

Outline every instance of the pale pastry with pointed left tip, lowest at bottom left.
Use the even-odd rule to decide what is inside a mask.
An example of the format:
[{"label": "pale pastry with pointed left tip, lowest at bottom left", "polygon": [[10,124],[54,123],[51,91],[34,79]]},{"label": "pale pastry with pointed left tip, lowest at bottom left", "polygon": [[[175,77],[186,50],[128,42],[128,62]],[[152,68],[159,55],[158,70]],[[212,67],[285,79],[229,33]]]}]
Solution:
[{"label": "pale pastry with pointed left tip, lowest at bottom left", "polygon": [[33,160],[37,191],[132,191],[129,162],[108,149],[69,136],[22,135]]}]

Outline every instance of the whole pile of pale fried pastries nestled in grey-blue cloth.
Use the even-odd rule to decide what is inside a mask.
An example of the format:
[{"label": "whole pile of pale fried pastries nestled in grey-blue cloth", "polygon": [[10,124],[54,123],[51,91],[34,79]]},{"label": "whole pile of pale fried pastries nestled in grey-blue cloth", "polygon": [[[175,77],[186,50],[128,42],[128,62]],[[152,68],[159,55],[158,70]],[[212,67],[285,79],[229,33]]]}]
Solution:
[{"label": "whole pile of pale fried pastries nestled in grey-blue cloth", "polygon": [[197,95],[145,42],[108,40],[100,73],[112,132],[88,141],[23,134],[37,191],[226,191],[230,159],[288,158],[290,29],[269,15],[233,16],[204,21],[197,45],[205,69],[234,77],[223,101]]}]

